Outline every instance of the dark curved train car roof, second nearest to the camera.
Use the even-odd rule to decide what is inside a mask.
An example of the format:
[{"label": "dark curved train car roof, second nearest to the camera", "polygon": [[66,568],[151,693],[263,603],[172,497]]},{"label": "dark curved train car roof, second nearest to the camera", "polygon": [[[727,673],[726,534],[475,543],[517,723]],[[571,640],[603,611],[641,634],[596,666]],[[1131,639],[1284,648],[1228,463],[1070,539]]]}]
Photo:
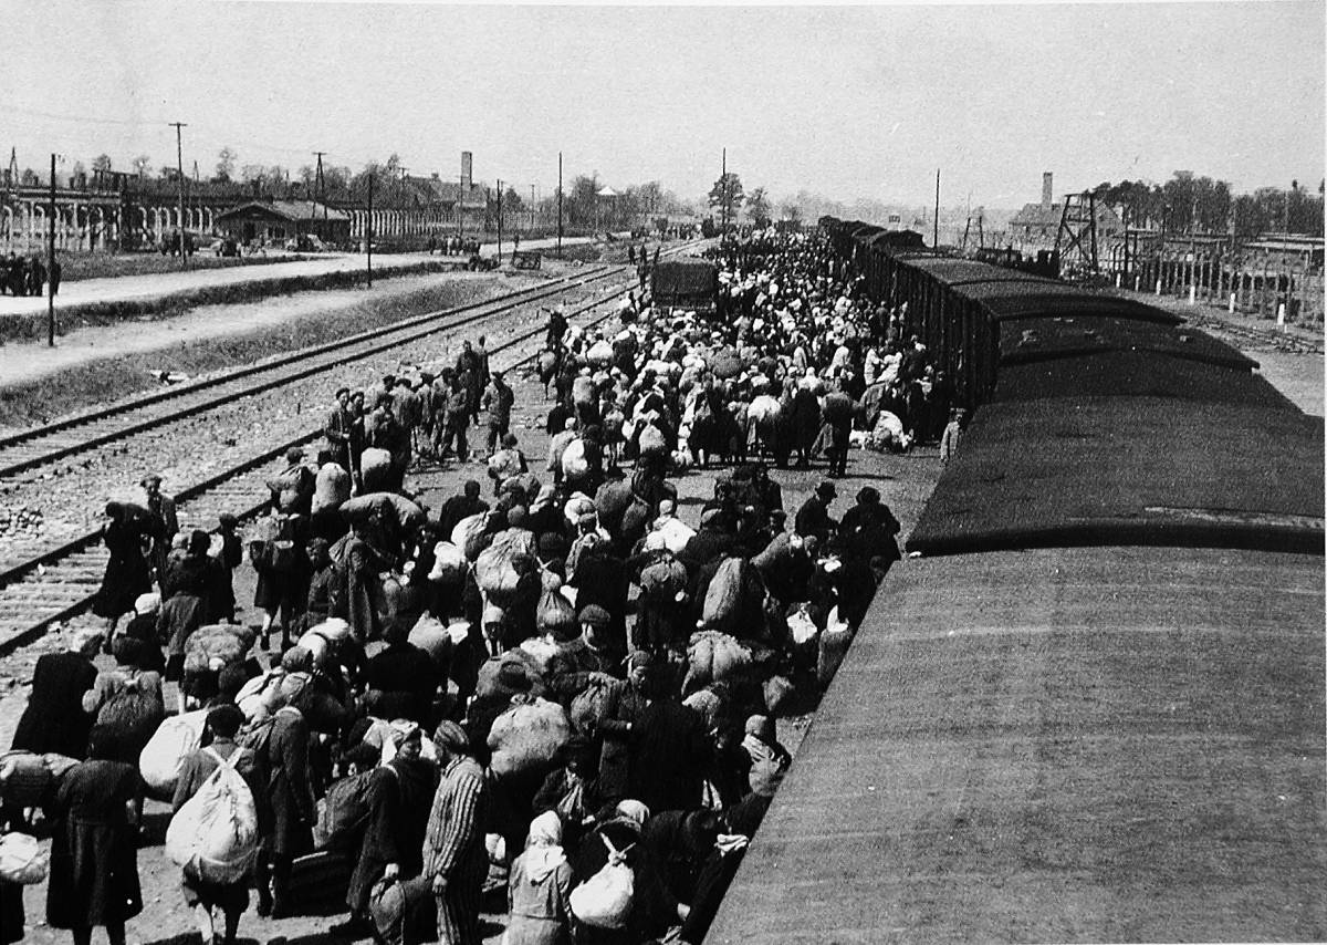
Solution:
[{"label": "dark curved train car roof, second nearest to the camera", "polygon": [[1071,544],[1323,553],[1323,421],[1157,397],[982,406],[909,540],[925,555]]}]

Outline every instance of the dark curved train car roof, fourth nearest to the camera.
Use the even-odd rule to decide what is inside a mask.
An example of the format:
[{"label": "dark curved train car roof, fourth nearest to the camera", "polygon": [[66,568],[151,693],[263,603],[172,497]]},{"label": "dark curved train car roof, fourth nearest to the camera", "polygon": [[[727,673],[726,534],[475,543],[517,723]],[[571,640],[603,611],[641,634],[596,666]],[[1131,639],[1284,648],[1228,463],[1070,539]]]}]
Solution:
[{"label": "dark curved train car roof, fourth nearest to the camera", "polygon": [[1235,370],[1250,372],[1258,368],[1258,362],[1247,354],[1206,332],[1116,315],[1060,315],[1051,320],[1005,319],[999,328],[1002,366],[1105,350],[1145,350]]}]

